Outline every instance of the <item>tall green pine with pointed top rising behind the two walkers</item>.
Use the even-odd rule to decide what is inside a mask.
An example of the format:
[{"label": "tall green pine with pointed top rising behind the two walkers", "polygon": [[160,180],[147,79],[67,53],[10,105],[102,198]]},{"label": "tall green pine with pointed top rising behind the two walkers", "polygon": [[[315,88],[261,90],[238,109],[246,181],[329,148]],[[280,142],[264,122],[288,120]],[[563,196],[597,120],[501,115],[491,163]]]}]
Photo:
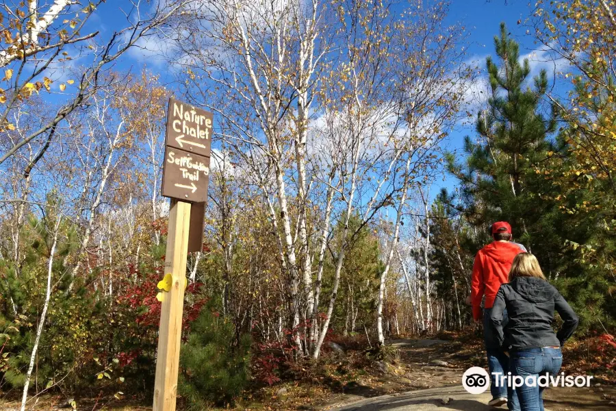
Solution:
[{"label": "tall green pine with pointed top rising behind the two walkers", "polygon": [[[500,64],[487,58],[491,95],[477,115],[477,141],[465,138],[466,164],[450,156],[449,169],[461,182],[465,217],[482,228],[485,241],[489,224],[509,221],[515,238],[537,253],[550,277],[558,277],[564,239],[554,227],[563,223],[563,214],[552,201],[552,184],[539,173],[554,150],[556,131],[556,110],[543,103],[548,75],[542,70],[530,84],[530,63],[519,61],[519,45],[504,23],[494,45]],[[568,238],[583,236],[582,230]]]}]

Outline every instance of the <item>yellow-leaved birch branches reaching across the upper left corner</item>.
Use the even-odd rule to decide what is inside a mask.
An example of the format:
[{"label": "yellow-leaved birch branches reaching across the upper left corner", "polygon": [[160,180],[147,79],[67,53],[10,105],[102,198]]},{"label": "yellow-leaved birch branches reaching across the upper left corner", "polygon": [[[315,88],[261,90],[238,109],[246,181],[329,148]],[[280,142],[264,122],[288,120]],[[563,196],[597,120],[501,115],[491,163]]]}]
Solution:
[{"label": "yellow-leaved birch branches reaching across the upper left corner", "polygon": [[[27,99],[39,92],[59,92],[60,103],[46,106],[47,120],[27,135],[10,142],[3,142],[0,164],[22,149],[29,142],[43,138],[42,153],[53,140],[55,129],[61,126],[77,108],[87,104],[105,86],[103,74],[126,51],[138,45],[140,40],[154,32],[169,27],[173,18],[180,14],[192,0],[174,0],[157,3],[131,2],[130,12],[125,16],[125,25],[109,36],[101,34],[93,23],[92,16],[98,8],[106,7],[100,0],[75,7],[73,1],[55,0],[49,4],[37,0],[20,5],[3,4],[4,46],[0,49],[0,66],[5,69],[0,92],[0,132],[15,129],[11,116]],[[86,33],[81,34],[81,33]],[[74,69],[64,81],[57,76],[59,71],[70,71],[72,62],[79,58],[86,62],[83,68]]]}]

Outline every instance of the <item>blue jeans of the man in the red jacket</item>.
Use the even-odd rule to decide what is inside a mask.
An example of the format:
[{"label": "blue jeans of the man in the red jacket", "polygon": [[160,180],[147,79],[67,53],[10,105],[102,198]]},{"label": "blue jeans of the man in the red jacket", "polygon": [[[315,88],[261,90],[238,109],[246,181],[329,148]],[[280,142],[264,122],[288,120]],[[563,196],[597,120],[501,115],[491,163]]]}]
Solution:
[{"label": "blue jeans of the man in the red jacket", "polygon": [[[510,411],[520,411],[517,394],[511,387],[497,386],[496,374],[506,376],[509,373],[509,357],[502,351],[500,344],[496,340],[496,333],[490,321],[491,308],[483,310],[483,341],[485,343],[485,351],[487,351],[488,368],[490,370],[490,393],[493,399],[506,398],[507,408]],[[509,322],[507,310],[502,312],[502,327]]]}]

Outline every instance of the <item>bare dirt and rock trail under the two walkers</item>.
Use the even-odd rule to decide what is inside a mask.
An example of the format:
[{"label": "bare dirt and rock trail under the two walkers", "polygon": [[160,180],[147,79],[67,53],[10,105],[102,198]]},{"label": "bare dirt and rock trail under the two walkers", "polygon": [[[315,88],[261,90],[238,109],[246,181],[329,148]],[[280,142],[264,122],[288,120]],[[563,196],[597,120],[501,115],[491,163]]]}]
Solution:
[{"label": "bare dirt and rock trail under the two walkers", "polygon": [[[378,378],[378,390],[374,389],[374,382],[362,384],[360,379],[319,409],[496,410],[485,406],[489,400],[487,393],[473,396],[461,387],[461,377],[467,368],[487,369],[482,347],[446,340],[391,340],[388,345],[398,349],[398,354],[393,364],[387,366],[387,372]],[[591,388],[549,388],[544,396],[546,410],[616,411],[616,387],[597,384]],[[389,395],[381,397],[384,394]]]}]

